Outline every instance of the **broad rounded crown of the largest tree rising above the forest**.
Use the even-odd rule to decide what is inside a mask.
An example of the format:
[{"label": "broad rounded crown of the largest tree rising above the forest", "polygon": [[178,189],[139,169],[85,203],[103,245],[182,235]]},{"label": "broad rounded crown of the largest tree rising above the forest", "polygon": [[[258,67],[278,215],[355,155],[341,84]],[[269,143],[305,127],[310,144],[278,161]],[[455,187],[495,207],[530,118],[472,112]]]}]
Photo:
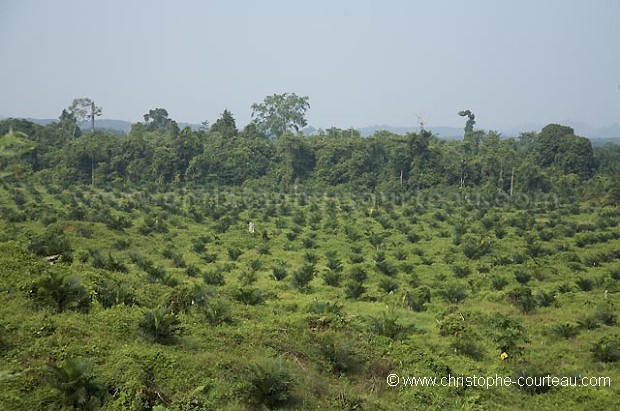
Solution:
[{"label": "broad rounded crown of the largest tree rising above the forest", "polygon": [[258,128],[270,137],[280,137],[285,131],[299,131],[306,126],[306,111],[310,108],[308,96],[274,94],[262,103],[252,104],[252,118]]}]

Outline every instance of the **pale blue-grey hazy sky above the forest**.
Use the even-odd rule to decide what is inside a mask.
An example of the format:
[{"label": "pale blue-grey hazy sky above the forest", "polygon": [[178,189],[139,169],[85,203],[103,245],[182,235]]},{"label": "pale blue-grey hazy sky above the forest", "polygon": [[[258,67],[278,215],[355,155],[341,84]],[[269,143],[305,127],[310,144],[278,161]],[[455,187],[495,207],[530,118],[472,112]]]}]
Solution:
[{"label": "pale blue-grey hazy sky above the forest", "polygon": [[0,115],[155,107],[239,124],[266,95],[315,127],[620,122],[620,1],[0,0]]}]

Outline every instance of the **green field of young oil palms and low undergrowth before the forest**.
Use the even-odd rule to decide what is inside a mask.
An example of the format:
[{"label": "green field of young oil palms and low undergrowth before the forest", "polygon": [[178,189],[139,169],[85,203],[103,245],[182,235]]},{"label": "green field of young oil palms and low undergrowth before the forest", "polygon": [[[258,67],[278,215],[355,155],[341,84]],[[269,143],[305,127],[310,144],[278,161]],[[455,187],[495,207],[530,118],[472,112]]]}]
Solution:
[{"label": "green field of young oil palms and low undergrowth before the forest", "polygon": [[4,190],[0,408],[613,409],[618,209],[433,198]]}]

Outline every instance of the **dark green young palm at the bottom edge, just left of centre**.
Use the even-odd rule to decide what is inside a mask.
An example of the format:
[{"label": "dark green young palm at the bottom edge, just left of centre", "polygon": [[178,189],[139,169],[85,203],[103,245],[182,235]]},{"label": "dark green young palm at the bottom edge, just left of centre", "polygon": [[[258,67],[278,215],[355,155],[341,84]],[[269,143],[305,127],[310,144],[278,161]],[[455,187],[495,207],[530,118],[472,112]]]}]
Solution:
[{"label": "dark green young palm at the bottom edge, just left of centre", "polygon": [[290,405],[295,377],[281,358],[265,359],[248,367],[246,379],[249,401],[269,409]]}]

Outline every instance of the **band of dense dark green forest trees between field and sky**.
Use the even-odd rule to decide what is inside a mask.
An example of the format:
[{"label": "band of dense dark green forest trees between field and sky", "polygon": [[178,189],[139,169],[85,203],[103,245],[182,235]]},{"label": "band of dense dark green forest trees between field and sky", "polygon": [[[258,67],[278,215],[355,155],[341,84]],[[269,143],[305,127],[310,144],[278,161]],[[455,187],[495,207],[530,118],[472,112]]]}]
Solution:
[{"label": "band of dense dark green forest trees between field and sky", "polygon": [[[76,99],[45,126],[0,121],[3,181],[35,179],[62,186],[246,186],[279,190],[364,191],[458,188],[512,195],[553,192],[620,202],[620,146],[593,148],[572,128],[549,124],[504,138],[476,130],[469,110],[462,140],[443,140],[421,127],[398,135],[329,128],[305,136],[308,97],[268,96],[252,105],[239,129],[229,110],[199,130],[180,129],[155,108],[127,136],[96,130],[102,109]],[[88,120],[90,131],[80,130]]]}]

